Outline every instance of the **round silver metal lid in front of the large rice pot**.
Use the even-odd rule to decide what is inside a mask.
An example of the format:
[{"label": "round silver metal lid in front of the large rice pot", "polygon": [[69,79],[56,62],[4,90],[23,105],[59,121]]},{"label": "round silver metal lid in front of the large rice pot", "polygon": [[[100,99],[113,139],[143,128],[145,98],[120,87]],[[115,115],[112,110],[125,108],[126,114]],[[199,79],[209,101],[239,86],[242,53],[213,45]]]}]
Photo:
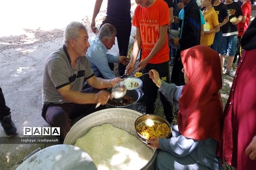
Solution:
[{"label": "round silver metal lid in front of the large rice pot", "polygon": [[31,154],[16,170],[97,170],[97,168],[93,159],[79,147],[58,144]]}]

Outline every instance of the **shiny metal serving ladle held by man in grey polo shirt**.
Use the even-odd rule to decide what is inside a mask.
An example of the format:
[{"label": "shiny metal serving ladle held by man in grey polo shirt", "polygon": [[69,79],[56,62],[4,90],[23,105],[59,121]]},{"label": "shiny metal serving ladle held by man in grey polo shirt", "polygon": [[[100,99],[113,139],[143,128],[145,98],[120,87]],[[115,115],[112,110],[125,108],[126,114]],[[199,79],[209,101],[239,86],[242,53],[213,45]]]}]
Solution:
[{"label": "shiny metal serving ladle held by man in grey polo shirt", "polygon": [[[115,99],[121,99],[123,96],[125,96],[127,91],[126,86],[123,82],[118,82],[111,90],[111,96]],[[101,105],[101,103],[97,103],[95,108],[98,108]]]}]

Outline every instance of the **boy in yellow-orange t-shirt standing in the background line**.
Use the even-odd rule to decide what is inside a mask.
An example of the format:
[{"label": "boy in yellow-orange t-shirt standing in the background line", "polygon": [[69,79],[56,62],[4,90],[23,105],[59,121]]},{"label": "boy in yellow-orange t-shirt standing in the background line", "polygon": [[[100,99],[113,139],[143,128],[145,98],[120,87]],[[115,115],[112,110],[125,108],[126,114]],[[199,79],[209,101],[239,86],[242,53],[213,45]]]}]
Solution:
[{"label": "boy in yellow-orange t-shirt standing in the background line", "polygon": [[[209,23],[209,31],[204,29],[204,36],[201,38],[201,45],[210,46],[213,43],[215,33],[220,31],[220,26],[218,23],[218,14],[213,8],[213,3],[215,0],[202,0],[202,7],[205,7],[202,11],[205,24]],[[204,26],[205,27],[205,26]]]}]

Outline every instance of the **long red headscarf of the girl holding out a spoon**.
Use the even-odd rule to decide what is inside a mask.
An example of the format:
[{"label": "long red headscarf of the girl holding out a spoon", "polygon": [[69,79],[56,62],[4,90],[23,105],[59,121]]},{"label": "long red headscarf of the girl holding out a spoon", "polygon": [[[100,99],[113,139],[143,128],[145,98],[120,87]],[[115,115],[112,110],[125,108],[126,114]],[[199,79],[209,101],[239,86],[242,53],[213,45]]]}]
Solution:
[{"label": "long red headscarf of the girl holding out a spoon", "polygon": [[220,141],[222,102],[221,62],[217,52],[204,45],[181,51],[189,78],[179,100],[178,127],[190,139]]}]

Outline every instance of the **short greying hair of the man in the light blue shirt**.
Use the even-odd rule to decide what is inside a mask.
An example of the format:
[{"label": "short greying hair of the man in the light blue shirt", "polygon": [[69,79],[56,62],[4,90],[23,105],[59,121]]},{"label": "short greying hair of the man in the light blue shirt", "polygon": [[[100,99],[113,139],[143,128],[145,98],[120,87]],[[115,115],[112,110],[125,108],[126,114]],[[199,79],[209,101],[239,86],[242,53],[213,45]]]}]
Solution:
[{"label": "short greying hair of the man in the light blue shirt", "polygon": [[116,28],[109,23],[105,23],[99,29],[99,40],[103,41],[104,38],[112,38],[113,35],[116,35]]}]

